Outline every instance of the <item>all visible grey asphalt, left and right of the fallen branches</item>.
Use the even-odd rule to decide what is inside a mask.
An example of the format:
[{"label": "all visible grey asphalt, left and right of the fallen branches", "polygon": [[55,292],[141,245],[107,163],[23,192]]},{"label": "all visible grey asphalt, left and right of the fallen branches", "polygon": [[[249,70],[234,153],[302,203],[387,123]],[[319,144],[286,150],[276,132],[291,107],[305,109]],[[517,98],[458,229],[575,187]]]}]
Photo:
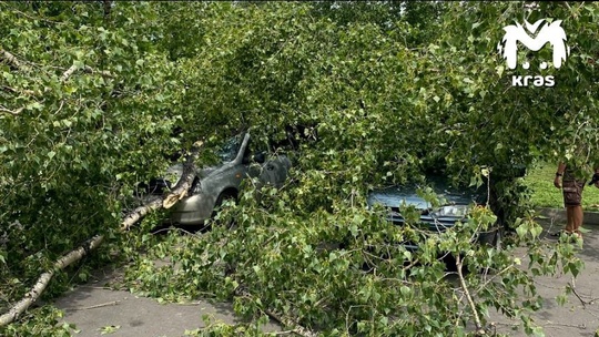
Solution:
[{"label": "all visible grey asphalt, left and right of the fallen branches", "polygon": [[[550,237],[564,226],[562,214],[554,212],[550,217],[540,221],[545,231],[544,239]],[[544,213],[547,215],[547,213]],[[542,308],[535,313],[537,325],[544,327],[545,336],[581,336],[593,337],[599,329],[599,223],[589,216],[590,223],[583,227],[585,244],[578,253],[585,262],[585,269],[576,278],[576,294],[570,294],[564,306],[558,305],[556,297],[561,294],[571,276],[537,277],[536,284],[544,298]],[[521,254],[526,265],[526,252]],[[129,292],[111,290],[105,285],[119,277],[119,270],[99,272],[87,285],[79,286],[55,302],[57,307],[64,310],[63,319],[77,325],[77,336],[184,336],[185,330],[205,326],[202,316],[209,315],[216,321],[238,323],[231,304],[211,304],[197,300],[187,304],[160,304],[155,299],[135,296]],[[495,330],[509,336],[527,336],[517,320],[490,313],[489,320],[495,321]],[[515,330],[514,328],[518,328]],[[272,323],[264,327],[265,331],[281,331],[282,328]],[[106,334],[110,333],[110,334]]]}]

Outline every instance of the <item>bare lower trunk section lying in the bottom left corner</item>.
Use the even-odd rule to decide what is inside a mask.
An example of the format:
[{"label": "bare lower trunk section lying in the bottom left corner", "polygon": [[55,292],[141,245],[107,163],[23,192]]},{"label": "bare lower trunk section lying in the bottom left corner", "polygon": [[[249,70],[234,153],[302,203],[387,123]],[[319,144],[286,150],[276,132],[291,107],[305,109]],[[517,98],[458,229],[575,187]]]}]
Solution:
[{"label": "bare lower trunk section lying in the bottom left corner", "polygon": [[70,266],[71,264],[80,261],[83,256],[85,256],[89,252],[95,249],[102,241],[104,239],[103,235],[97,235],[92,238],[90,238],[85,244],[81,245],[79,248],[71,251],[69,254],[63,255],[61,258],[59,258],[51,270],[48,270],[40,275],[38,278],[38,282],[35,285],[24,295],[24,297],[14,304],[8,313],[0,316],[0,326],[8,325],[9,323],[13,321],[19,317],[27,308],[29,308],[43,293],[52,277],[54,276],[54,273],[57,270],[62,270]]}]

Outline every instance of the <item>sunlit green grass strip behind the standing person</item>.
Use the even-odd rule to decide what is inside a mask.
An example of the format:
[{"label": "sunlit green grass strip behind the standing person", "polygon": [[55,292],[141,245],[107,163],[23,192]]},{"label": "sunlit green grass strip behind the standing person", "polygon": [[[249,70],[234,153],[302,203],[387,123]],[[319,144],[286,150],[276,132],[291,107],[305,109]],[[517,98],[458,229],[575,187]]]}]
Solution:
[{"label": "sunlit green grass strip behind the standing person", "polygon": [[[535,207],[564,207],[561,191],[554,186],[557,164],[539,164],[525,176],[525,184],[532,191],[530,202]],[[589,177],[590,178],[590,177]],[[582,208],[599,211],[599,188],[585,186],[582,191]]]}]

